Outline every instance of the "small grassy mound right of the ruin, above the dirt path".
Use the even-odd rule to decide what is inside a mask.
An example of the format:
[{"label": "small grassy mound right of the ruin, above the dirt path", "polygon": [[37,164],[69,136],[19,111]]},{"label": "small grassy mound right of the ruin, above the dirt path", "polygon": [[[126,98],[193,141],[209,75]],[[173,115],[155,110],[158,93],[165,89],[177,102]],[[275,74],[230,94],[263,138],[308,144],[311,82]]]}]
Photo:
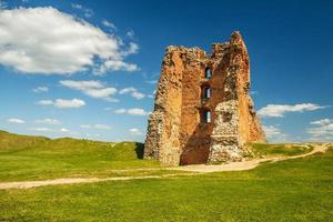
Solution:
[{"label": "small grassy mound right of the ruin, above the dirt path", "polygon": [[261,155],[299,155],[311,152],[312,145],[303,144],[266,144],[266,143],[248,143],[246,147],[251,149],[254,157]]}]

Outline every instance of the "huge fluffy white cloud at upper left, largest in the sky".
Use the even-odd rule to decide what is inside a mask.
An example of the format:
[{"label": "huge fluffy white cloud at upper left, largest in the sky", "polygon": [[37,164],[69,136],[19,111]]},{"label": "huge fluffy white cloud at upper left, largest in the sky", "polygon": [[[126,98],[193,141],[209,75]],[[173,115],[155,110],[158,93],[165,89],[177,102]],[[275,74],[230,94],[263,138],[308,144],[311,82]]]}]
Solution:
[{"label": "huge fluffy white cloud at upper left, largest in the sky", "polygon": [[0,64],[34,74],[125,70],[124,58],[138,52],[120,38],[52,7],[0,10]]}]

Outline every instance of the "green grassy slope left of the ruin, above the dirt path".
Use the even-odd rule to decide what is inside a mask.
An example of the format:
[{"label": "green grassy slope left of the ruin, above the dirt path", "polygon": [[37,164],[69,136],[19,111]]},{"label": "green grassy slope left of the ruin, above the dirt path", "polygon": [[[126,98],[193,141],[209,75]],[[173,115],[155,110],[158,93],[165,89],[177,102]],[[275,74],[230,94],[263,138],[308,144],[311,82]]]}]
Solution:
[{"label": "green grassy slope left of the ruin, above the dirt path", "polygon": [[159,165],[140,158],[142,144],[134,142],[50,140],[0,131],[0,181],[111,176],[114,169]]}]

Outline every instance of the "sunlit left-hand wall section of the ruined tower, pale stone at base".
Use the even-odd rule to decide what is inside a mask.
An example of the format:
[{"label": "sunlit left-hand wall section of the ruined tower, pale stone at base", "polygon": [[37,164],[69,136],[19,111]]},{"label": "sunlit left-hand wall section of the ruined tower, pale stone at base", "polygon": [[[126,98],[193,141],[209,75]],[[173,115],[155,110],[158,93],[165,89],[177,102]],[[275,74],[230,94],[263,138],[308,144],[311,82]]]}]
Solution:
[{"label": "sunlit left-hand wall section of the ruined tower, pale stone at base", "polygon": [[165,52],[144,145],[147,159],[157,159],[165,165],[178,165],[181,154],[179,134],[184,67],[180,56],[172,47]]}]

